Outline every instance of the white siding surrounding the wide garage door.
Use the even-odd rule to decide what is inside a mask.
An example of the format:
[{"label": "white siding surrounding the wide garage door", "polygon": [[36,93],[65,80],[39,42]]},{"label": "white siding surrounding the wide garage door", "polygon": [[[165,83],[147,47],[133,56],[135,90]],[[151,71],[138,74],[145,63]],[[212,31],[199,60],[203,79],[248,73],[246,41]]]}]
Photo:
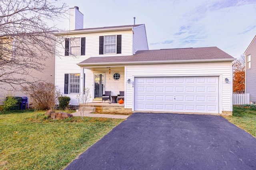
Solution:
[{"label": "white siding surrounding the wide garage door", "polygon": [[[219,112],[232,111],[232,83],[225,83],[225,78],[232,80],[231,62],[213,63],[174,63],[144,64],[125,66],[126,80],[134,82],[136,77],[180,77],[180,76],[218,76],[219,77]],[[126,84],[126,108],[133,107],[134,83]],[[134,108],[133,108],[134,109]]]}]

